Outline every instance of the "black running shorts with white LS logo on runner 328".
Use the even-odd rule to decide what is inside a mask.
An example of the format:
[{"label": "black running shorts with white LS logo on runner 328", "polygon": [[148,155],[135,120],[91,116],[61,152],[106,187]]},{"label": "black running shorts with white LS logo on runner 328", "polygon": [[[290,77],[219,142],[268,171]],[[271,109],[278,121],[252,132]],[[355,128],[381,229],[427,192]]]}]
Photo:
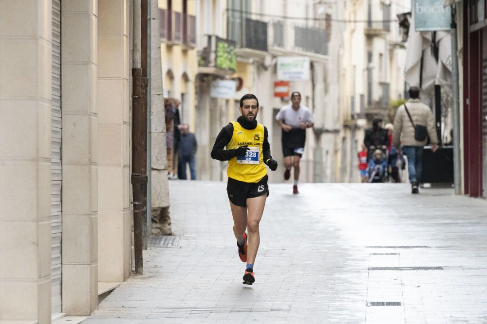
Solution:
[{"label": "black running shorts with white LS logo on runner 328", "polygon": [[255,198],[262,195],[269,196],[269,186],[267,186],[267,180],[269,177],[265,175],[257,183],[249,183],[238,181],[232,178],[228,178],[226,185],[226,192],[228,193],[228,199],[233,205],[246,207],[247,198]]}]

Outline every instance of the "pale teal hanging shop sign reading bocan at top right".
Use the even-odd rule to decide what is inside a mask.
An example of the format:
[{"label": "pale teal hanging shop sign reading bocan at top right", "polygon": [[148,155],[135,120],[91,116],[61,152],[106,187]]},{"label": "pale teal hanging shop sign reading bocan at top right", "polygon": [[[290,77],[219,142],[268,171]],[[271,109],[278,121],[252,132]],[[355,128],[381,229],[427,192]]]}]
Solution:
[{"label": "pale teal hanging shop sign reading bocan at top right", "polygon": [[450,30],[451,8],[444,0],[414,0],[413,7],[416,32]]}]

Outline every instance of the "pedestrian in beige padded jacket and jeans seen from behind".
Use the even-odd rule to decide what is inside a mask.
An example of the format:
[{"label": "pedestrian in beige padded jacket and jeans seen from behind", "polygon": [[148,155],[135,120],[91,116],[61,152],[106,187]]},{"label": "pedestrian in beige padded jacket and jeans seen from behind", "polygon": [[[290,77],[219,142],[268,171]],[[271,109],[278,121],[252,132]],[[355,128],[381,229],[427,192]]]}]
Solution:
[{"label": "pedestrian in beige padded jacket and jeans seen from behind", "polygon": [[[419,193],[418,184],[421,182],[421,172],[423,169],[423,149],[428,138],[419,141],[414,138],[414,126],[422,125],[428,129],[431,150],[436,152],[438,149],[438,136],[434,127],[434,116],[430,107],[419,101],[419,88],[412,86],[409,89],[411,99],[397,109],[394,119],[393,144],[408,157],[409,181],[411,182],[411,192]],[[406,111],[409,111],[411,119]],[[413,126],[414,123],[414,126]]]}]

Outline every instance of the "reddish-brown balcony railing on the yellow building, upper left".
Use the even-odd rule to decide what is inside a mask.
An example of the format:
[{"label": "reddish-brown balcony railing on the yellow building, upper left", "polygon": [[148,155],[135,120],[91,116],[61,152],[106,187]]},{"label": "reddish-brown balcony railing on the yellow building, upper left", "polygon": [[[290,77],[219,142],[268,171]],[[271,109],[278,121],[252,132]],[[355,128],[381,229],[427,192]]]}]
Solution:
[{"label": "reddish-brown balcony railing on the yellow building, upper left", "polygon": [[196,20],[194,16],[180,12],[159,9],[159,34],[162,40],[184,44],[194,48],[196,45]]}]

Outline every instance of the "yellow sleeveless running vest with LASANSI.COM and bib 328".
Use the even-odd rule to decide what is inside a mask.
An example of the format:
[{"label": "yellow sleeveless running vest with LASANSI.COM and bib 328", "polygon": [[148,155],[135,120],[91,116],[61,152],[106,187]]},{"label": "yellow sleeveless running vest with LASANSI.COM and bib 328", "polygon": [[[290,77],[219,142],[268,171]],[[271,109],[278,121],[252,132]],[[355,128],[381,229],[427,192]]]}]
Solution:
[{"label": "yellow sleeveless running vest with LASANSI.COM and bib 328", "polygon": [[262,155],[264,125],[258,123],[254,129],[245,129],[238,121],[232,121],[232,124],[233,134],[226,149],[234,150],[247,145],[250,150],[245,156],[232,157],[228,161],[226,174],[235,180],[257,183],[267,174]]}]

